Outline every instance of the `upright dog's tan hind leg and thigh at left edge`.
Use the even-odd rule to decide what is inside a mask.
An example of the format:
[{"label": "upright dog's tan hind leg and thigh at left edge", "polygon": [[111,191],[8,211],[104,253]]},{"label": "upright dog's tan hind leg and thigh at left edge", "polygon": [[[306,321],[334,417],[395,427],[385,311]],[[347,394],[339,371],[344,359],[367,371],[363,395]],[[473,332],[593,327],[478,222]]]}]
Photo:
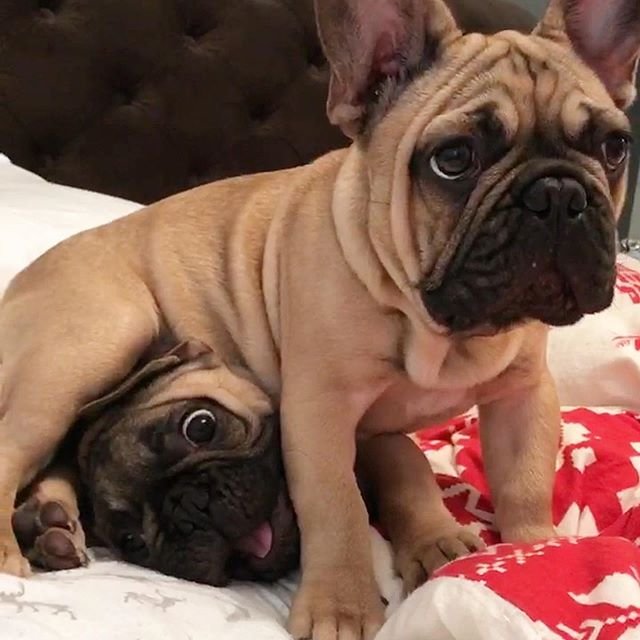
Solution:
[{"label": "upright dog's tan hind leg and thigh at left edge", "polygon": [[88,289],[74,290],[63,307],[60,299],[71,288],[55,278],[45,291],[3,303],[0,572],[29,574],[11,524],[18,489],[46,465],[82,405],[119,382],[156,334],[155,307],[145,305],[145,292],[129,302],[114,291],[110,275],[105,282],[87,274]]}]

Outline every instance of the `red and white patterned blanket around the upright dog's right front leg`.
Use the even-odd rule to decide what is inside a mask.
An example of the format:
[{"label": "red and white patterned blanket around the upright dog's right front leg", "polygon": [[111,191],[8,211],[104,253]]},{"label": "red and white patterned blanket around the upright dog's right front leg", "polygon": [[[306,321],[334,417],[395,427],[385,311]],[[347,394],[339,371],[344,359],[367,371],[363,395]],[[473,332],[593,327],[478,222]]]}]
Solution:
[{"label": "red and white patterned blanket around the upright dog's right front leg", "polygon": [[[640,416],[564,412],[544,544],[498,544],[474,416],[418,434],[456,519],[491,545],[452,562],[389,620],[402,638],[640,638]],[[588,537],[583,537],[588,536]]]}]

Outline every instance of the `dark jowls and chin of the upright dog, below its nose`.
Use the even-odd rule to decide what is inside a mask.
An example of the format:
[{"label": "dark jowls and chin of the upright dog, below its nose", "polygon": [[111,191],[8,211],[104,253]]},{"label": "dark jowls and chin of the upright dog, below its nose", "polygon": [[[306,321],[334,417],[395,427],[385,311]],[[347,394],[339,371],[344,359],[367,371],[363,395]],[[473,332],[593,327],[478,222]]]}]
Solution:
[{"label": "dark jowls and chin of the upright dog, below its nose", "polygon": [[425,276],[422,302],[452,334],[491,335],[528,321],[567,326],[606,309],[616,242],[607,207],[551,232],[517,207],[501,207],[464,238],[440,282]]}]

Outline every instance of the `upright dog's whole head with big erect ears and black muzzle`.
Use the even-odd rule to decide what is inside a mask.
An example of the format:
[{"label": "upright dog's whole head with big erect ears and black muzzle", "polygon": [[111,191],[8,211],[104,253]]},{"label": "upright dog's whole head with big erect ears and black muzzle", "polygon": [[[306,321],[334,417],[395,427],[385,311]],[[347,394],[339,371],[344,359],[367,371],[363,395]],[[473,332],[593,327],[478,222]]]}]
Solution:
[{"label": "upright dog's whole head with big erect ears and black muzzle", "polygon": [[[553,0],[531,34],[463,34],[442,0],[317,0],[316,14],[368,238],[434,330],[606,308],[638,1]],[[338,186],[341,210],[364,206],[352,192]]]}]

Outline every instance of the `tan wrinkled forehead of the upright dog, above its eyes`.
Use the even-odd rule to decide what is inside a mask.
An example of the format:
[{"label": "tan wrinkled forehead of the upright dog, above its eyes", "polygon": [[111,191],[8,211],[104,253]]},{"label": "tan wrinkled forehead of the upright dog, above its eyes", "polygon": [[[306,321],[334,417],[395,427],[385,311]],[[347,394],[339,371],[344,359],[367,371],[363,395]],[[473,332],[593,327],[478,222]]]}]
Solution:
[{"label": "tan wrinkled forehead of the upright dog, above its eyes", "polygon": [[568,143],[594,130],[628,131],[597,76],[567,47],[535,35],[470,34],[445,54],[433,90],[425,76],[429,134],[489,119],[508,143],[536,136]]}]

